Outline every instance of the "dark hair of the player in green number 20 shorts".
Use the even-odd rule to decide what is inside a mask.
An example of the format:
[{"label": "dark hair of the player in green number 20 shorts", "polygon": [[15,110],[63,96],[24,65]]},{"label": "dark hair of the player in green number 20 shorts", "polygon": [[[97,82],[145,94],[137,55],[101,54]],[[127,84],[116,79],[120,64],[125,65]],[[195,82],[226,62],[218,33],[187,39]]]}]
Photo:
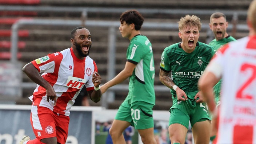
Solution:
[{"label": "dark hair of the player in green number 20 shorts", "polygon": [[126,24],[134,24],[135,30],[139,31],[141,29],[141,25],[143,24],[144,18],[138,11],[132,9],[121,14],[120,22],[123,23],[124,21]]}]

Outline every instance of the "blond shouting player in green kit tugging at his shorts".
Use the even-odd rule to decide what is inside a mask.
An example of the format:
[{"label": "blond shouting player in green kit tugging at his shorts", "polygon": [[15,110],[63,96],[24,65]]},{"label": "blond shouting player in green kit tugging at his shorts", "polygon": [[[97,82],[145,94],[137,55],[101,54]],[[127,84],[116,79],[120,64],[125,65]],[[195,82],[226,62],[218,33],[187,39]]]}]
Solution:
[{"label": "blond shouting player in green kit tugging at his shorts", "polygon": [[159,75],[161,83],[170,88],[172,94],[169,136],[172,144],[184,144],[190,121],[195,144],[209,144],[211,122],[197,82],[215,49],[198,41],[199,17],[186,15],[178,24],[182,41],[164,49]]}]

